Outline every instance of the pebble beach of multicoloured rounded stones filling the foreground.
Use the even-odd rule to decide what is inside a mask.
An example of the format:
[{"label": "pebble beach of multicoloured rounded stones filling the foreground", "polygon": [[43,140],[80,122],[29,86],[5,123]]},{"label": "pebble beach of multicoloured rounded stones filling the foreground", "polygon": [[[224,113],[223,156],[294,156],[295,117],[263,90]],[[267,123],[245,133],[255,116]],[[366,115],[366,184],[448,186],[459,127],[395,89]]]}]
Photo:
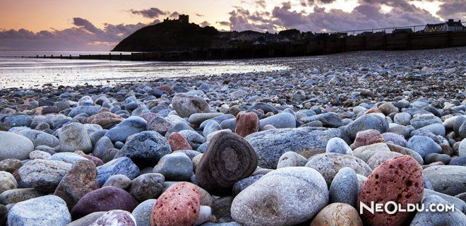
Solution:
[{"label": "pebble beach of multicoloured rounded stones filling the foreground", "polygon": [[1,89],[0,225],[466,225],[466,47],[253,64]]}]

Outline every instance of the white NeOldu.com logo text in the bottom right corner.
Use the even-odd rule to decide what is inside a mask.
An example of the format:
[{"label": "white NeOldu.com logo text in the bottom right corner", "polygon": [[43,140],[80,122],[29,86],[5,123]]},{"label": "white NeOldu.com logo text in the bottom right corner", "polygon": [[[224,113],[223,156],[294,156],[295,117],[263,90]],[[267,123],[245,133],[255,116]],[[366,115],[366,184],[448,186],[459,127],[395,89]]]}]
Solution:
[{"label": "white NeOldu.com logo text in the bottom right corner", "polygon": [[365,203],[359,202],[359,213],[363,214],[364,209],[369,211],[369,213],[388,213],[390,215],[395,213],[404,213],[404,212],[455,212],[454,204],[431,204],[429,206],[424,205],[424,203],[407,203],[406,208],[403,208],[401,203],[395,203],[394,201],[388,201],[386,203],[374,203],[371,201],[369,206]]}]

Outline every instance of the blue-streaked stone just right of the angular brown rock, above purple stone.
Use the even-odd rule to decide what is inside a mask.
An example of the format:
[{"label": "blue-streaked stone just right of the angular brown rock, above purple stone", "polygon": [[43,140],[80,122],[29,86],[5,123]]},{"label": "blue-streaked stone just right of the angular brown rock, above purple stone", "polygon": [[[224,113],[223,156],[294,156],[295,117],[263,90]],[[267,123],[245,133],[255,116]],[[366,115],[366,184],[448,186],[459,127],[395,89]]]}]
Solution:
[{"label": "blue-streaked stone just right of the angular brown rock, above purple stone", "polygon": [[97,167],[97,182],[103,185],[109,177],[123,174],[129,179],[134,179],[139,174],[139,168],[129,157],[119,157]]}]

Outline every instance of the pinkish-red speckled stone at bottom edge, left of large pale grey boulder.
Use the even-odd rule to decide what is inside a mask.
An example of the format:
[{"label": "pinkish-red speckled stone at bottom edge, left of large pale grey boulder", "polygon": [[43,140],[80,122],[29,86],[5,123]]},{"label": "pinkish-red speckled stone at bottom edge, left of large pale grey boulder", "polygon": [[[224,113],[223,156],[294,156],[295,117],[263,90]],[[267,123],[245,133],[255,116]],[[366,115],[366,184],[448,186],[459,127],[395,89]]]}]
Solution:
[{"label": "pinkish-red speckled stone at bottom edge, left of large pale grey boulder", "polygon": [[159,198],[150,214],[152,226],[194,225],[201,208],[201,194],[196,185],[178,182]]}]

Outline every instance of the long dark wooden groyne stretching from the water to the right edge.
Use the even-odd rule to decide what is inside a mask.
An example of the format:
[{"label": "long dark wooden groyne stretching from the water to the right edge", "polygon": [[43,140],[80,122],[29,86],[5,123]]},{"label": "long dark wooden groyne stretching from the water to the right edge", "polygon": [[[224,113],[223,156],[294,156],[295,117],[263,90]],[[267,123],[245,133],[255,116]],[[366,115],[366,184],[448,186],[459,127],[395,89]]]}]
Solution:
[{"label": "long dark wooden groyne stretching from the water to the right edge", "polygon": [[234,48],[208,48],[175,52],[138,52],[79,56],[36,56],[54,59],[101,59],[116,61],[196,61],[213,59],[250,59],[300,57],[362,50],[437,49],[466,46],[466,30],[456,32],[373,33],[332,37],[316,35],[306,42],[242,44]]}]

